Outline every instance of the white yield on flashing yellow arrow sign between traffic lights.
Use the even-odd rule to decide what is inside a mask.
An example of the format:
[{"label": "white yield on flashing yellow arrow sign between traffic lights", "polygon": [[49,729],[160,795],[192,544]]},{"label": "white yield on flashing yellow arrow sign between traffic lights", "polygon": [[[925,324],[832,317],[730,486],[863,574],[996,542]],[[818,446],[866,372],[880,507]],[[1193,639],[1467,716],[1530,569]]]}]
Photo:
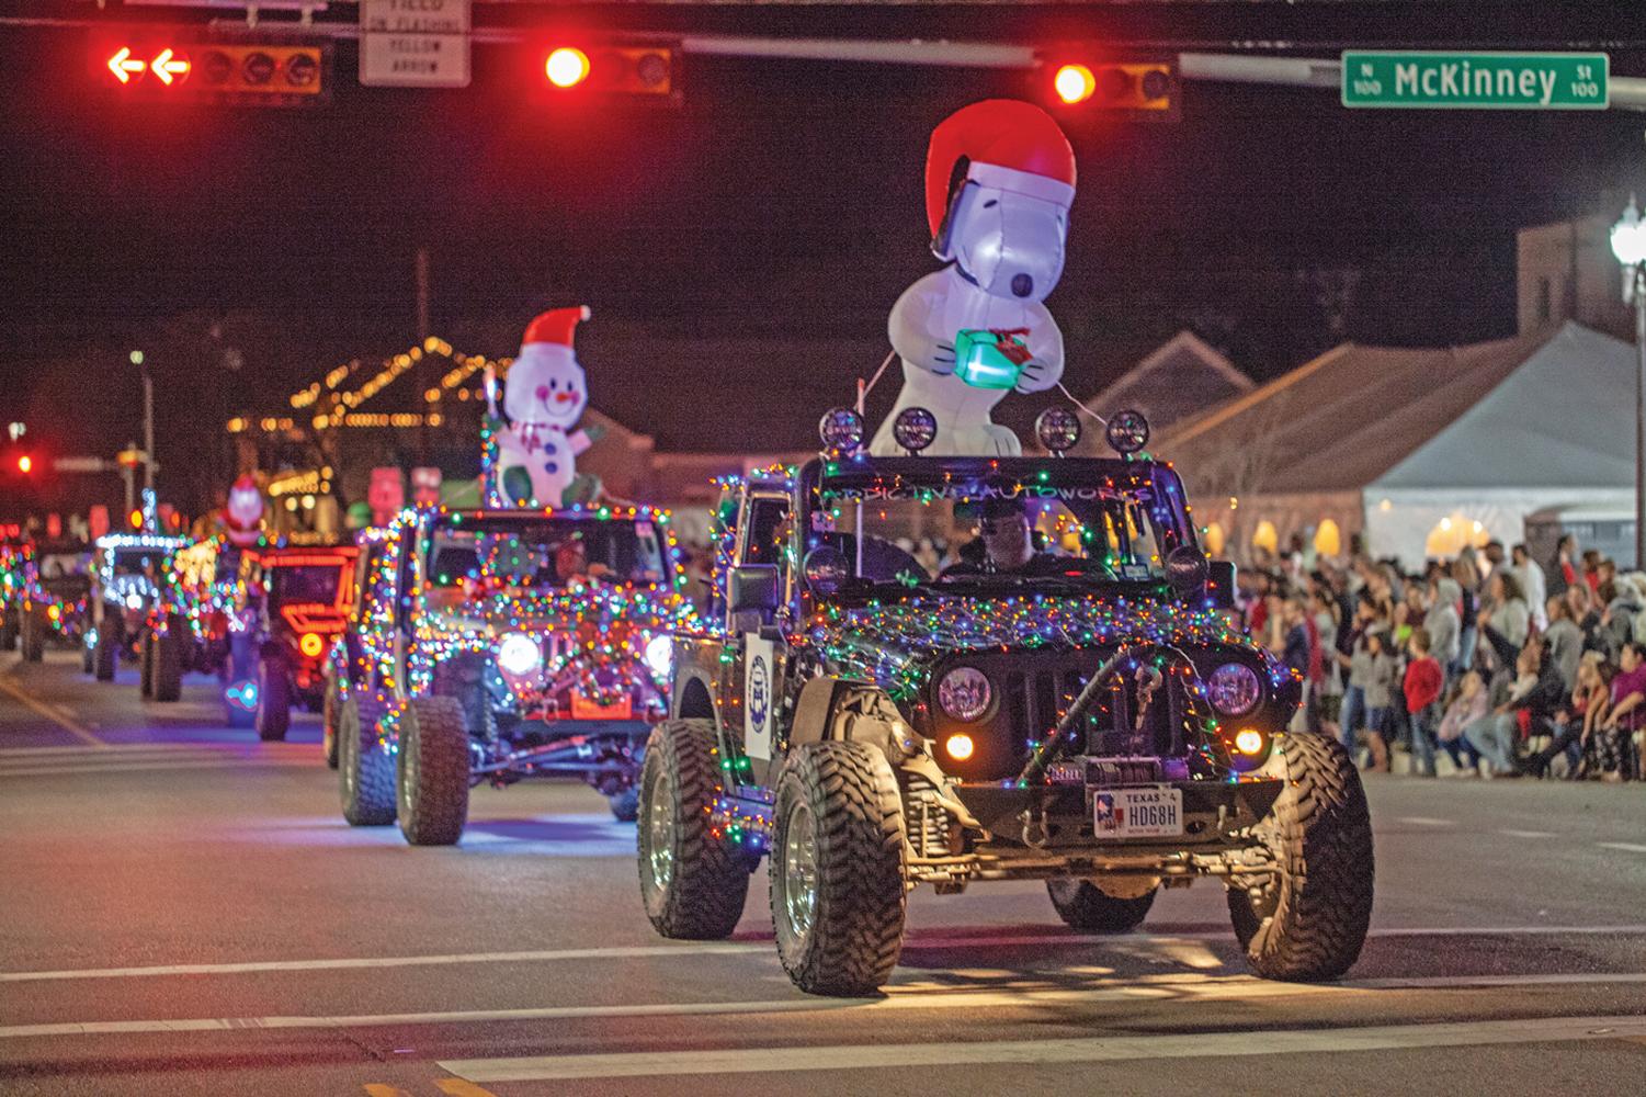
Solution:
[{"label": "white yield on flashing yellow arrow sign between traffic lights", "polygon": [[360,0],[360,82],[467,87],[469,0]]}]

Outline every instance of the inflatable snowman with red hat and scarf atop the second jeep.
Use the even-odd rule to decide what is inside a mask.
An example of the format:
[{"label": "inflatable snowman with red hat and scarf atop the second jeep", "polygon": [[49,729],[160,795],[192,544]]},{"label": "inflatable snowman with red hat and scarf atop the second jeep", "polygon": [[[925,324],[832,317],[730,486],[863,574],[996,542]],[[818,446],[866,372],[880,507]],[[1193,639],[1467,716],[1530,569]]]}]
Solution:
[{"label": "inflatable snowman with red hat and scarf atop the second jeep", "polygon": [[597,481],[578,476],[576,458],[594,438],[576,430],[589,395],[571,348],[578,321],[588,318],[588,306],[555,308],[530,323],[509,367],[507,422],[497,415],[495,382],[487,374],[497,441],[489,491],[504,506],[558,507],[594,497]]}]

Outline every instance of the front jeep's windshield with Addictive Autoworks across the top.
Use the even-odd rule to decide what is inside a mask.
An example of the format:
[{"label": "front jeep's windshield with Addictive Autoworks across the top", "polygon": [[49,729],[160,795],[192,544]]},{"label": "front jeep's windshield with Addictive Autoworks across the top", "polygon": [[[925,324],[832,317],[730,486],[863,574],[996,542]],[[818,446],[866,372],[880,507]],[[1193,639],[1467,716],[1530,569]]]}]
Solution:
[{"label": "front jeep's windshield with Addictive Autoworks across the top", "polygon": [[1155,583],[1172,548],[1193,544],[1182,483],[1146,461],[841,461],[811,499],[803,552],[833,562],[848,595]]}]

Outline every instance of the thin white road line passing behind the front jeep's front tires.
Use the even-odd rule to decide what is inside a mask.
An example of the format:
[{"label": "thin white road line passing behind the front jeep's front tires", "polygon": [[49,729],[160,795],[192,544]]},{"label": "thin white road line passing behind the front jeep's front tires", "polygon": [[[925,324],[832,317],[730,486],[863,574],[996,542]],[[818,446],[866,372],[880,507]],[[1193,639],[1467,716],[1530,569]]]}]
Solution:
[{"label": "thin white road line passing behind the front jeep's front tires", "polygon": [[[1434,926],[1373,929],[1368,937],[1605,937],[1646,934],[1646,922],[1631,926]],[[966,936],[910,937],[905,952],[923,949],[973,949],[1035,945],[1040,949],[1081,949],[1114,945],[1174,944],[1180,941],[1234,941],[1234,931],[1182,934],[1129,934],[1121,937]],[[606,945],[596,949],[537,949],[530,952],[446,952],[431,955],[332,957],[318,960],[244,960],[232,964],[160,964],[150,967],[92,967],[40,972],[0,972],[0,983],[58,982],[66,978],[146,978],[170,975],[245,975],[250,972],[331,972],[352,969],[423,967],[449,964],[545,964],[558,960],[607,960],[695,955],[767,955],[770,941],[709,941],[681,945]]]}]

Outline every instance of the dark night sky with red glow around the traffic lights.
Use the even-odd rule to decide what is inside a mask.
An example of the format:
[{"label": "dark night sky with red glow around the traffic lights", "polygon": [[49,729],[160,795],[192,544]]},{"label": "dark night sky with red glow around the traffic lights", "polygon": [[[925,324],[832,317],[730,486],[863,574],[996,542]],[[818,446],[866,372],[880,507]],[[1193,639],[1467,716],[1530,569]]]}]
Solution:
[{"label": "dark night sky with red glow around the traffic lights", "polygon": [[[650,25],[739,16],[749,30],[989,41],[1131,31],[1210,48],[1287,31],[1314,40],[1297,53],[1335,56],[1350,35],[1480,38],[1467,16],[1493,5],[1427,5],[1427,21],[1417,7],[816,8],[764,23],[672,8]],[[1523,40],[1638,36],[1621,5],[1582,20],[1504,10],[1514,18],[1495,33]],[[1562,18],[1570,26],[1551,26]],[[678,109],[566,104],[537,89],[537,46],[477,46],[472,87],[410,92],[360,89],[354,46],[339,43],[328,105],[249,110],[117,102],[84,77],[82,31],[0,28],[0,418],[26,418],[64,451],[112,450],[135,430],[125,349],[161,348],[163,427],[184,450],[221,425],[219,404],[275,410],[339,361],[408,346],[425,245],[433,328],[458,346],[509,354],[535,311],[588,303],[594,407],[663,448],[803,446],[820,404],[843,402],[877,354],[704,362],[672,341],[838,339],[858,354],[884,341],[892,301],[933,268],[920,204],[932,125],[974,99],[1044,97],[1021,72],[688,58]],[[1639,41],[1608,48],[1615,74],[1646,74]],[[1646,191],[1641,114],[1350,112],[1335,92],[1216,84],[1180,94],[1177,122],[1060,115],[1080,189],[1049,305],[1076,392],[1183,326],[1258,377],[1338,338],[1508,334],[1514,231],[1610,216]],[[1353,290],[1323,305],[1343,272]],[[1374,379],[1368,390],[1374,410]]]}]

